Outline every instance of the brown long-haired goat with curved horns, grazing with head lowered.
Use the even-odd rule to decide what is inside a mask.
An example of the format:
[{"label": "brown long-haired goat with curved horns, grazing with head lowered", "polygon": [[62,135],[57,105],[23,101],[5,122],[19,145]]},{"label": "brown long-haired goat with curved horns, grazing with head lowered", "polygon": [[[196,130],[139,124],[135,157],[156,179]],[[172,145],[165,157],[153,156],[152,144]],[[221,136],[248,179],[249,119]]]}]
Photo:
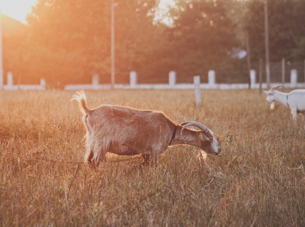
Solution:
[{"label": "brown long-haired goat with curved horns, grazing with head lowered", "polygon": [[[188,144],[199,147],[206,153],[217,156],[221,153],[213,132],[198,122],[172,122],[162,112],[138,110],[128,107],[101,105],[93,110],[87,107],[84,91],[78,91],[72,100],[77,100],[83,114],[87,133],[85,162],[98,166],[106,161],[105,154],[142,154],[147,165],[152,156],[157,165],[159,155],[168,146]],[[184,126],[182,126],[184,125]],[[199,131],[187,129],[196,126]]]}]

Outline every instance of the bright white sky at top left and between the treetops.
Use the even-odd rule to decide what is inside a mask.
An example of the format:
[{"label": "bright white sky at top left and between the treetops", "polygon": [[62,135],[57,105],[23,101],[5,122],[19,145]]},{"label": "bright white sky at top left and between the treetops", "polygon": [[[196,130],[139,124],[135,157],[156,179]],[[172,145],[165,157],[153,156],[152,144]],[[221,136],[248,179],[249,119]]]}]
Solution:
[{"label": "bright white sky at top left and between the treetops", "polygon": [[[27,24],[27,14],[32,11],[32,6],[35,5],[37,0],[0,0],[0,9],[2,13],[7,16]],[[166,5],[172,5],[173,0],[160,0],[159,6],[161,8]]]}]

